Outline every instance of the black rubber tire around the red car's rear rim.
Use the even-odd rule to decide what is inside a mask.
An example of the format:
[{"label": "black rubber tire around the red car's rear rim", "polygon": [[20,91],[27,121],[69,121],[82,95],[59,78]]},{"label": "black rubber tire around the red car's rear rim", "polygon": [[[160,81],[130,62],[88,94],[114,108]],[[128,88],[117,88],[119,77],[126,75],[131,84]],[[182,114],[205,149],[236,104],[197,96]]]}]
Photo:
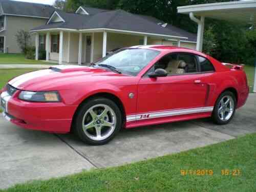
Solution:
[{"label": "black rubber tire around the red car's rear rim", "polygon": [[[221,119],[221,117],[220,117],[219,114],[218,114],[219,106],[220,106],[221,100],[222,100],[223,98],[225,98],[225,97],[228,97],[228,96],[233,99],[233,105],[234,105],[234,106],[233,106],[233,112],[232,112],[232,115],[231,115],[228,119],[223,120],[223,119]],[[230,91],[225,91],[225,92],[223,92],[223,93],[219,96],[219,98],[217,99],[217,101],[216,101],[216,103],[215,103],[214,111],[212,112],[212,116],[211,116],[211,117],[212,117],[212,120],[213,120],[216,124],[220,124],[220,125],[229,123],[229,122],[232,120],[232,118],[233,118],[233,116],[234,116],[234,114],[235,114],[235,112],[236,112],[236,107],[237,107],[237,99],[236,99],[236,96],[234,96],[234,94],[233,94],[232,92],[230,92]]]}]

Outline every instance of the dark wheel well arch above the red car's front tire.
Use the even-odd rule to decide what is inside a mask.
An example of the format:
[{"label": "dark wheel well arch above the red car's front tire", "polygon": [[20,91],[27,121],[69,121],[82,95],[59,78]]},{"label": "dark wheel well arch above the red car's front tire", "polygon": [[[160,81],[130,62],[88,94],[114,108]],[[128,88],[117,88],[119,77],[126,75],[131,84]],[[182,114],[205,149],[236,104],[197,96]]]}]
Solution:
[{"label": "dark wheel well arch above the red car's front tire", "polygon": [[123,122],[123,125],[126,121],[126,114],[125,114],[125,110],[124,110],[124,106],[123,106],[123,103],[122,101],[115,95],[111,94],[111,93],[97,93],[97,94],[94,94],[94,95],[91,95],[90,97],[87,97],[86,99],[84,99],[79,105],[78,105],[78,108],[76,109],[75,111],[75,114],[73,115],[73,119],[72,119],[72,126],[71,126],[71,131],[73,129],[73,124],[74,124],[74,119],[77,115],[77,112],[79,111],[80,109],[80,106],[82,105],[82,103],[84,102],[87,102],[91,99],[94,99],[96,97],[104,97],[104,98],[107,98],[107,99],[110,99],[112,100],[113,102],[115,102],[118,106],[118,108],[120,109],[121,111],[121,114],[122,114],[122,122]]}]

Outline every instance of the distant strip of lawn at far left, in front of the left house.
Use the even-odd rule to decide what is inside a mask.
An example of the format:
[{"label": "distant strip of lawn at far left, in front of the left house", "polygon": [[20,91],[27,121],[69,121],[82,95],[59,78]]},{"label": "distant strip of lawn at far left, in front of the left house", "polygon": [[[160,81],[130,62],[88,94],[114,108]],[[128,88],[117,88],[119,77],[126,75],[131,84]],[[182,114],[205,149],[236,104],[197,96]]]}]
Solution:
[{"label": "distant strip of lawn at far left, in front of the left house", "polygon": [[0,65],[1,64],[50,64],[50,62],[36,61],[33,59],[26,59],[24,54],[13,54],[5,53],[0,54]]}]

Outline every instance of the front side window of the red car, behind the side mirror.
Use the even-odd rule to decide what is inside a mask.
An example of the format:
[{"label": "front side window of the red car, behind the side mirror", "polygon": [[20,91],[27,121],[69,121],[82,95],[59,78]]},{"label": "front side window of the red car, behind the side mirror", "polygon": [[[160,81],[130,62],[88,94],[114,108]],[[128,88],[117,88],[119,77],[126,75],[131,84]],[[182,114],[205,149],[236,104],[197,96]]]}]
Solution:
[{"label": "front side window of the red car, behind the side mirror", "polygon": [[157,61],[147,74],[154,72],[156,69],[164,69],[168,75],[196,73],[198,72],[197,59],[191,54],[171,53]]}]

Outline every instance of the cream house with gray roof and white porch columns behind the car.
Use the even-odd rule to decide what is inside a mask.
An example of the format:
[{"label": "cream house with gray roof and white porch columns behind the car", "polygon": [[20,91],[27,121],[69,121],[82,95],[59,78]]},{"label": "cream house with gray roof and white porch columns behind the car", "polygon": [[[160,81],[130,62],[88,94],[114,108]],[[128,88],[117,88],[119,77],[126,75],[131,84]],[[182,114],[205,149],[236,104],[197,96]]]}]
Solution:
[{"label": "cream house with gray roof and white porch columns behind the car", "polygon": [[46,60],[59,64],[94,62],[116,48],[135,45],[171,45],[196,49],[196,35],[154,17],[123,10],[79,7],[75,13],[55,11],[36,33],[38,49],[46,49]]}]

